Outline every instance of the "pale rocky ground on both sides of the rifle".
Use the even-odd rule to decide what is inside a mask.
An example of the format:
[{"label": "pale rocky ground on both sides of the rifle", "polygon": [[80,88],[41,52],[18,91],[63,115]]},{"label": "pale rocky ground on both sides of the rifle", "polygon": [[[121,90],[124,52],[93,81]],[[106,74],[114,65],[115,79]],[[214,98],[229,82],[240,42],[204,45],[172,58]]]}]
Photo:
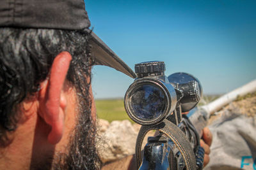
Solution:
[{"label": "pale rocky ground on both sides of the rifle", "polygon": [[[246,117],[255,117],[256,115],[256,93],[245,97],[237,97],[237,100],[225,106],[221,111],[214,113],[209,120],[209,125],[226,113],[243,114]],[[128,120],[113,121],[109,124],[106,120],[98,121],[100,145],[99,153],[104,163],[121,159],[127,155],[134,154],[136,138],[140,125],[131,124]],[[153,136],[151,131],[147,136]],[[147,142],[147,136],[144,144]],[[103,149],[104,148],[104,149]]]}]

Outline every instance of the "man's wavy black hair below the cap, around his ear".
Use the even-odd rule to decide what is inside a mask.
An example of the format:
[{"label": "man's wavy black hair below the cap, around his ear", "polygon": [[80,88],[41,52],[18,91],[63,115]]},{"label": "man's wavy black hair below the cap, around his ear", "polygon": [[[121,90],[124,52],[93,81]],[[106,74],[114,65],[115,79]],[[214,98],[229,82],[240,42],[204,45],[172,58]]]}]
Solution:
[{"label": "man's wavy black hair below the cap, around his ear", "polygon": [[[67,80],[79,96],[88,96],[92,65],[88,36],[58,29],[0,29],[0,146],[8,142],[6,134],[17,128],[19,104],[39,90],[58,53],[70,52]],[[86,98],[83,104],[91,106],[90,97]]]}]

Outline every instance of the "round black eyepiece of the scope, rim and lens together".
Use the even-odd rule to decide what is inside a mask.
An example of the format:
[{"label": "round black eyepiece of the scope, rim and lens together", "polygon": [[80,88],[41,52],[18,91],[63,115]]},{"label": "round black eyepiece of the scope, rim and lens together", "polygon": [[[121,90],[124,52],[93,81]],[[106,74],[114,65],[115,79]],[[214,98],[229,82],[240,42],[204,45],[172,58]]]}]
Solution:
[{"label": "round black eyepiece of the scope, rim and lens together", "polygon": [[177,96],[170,83],[156,78],[141,78],[125,94],[128,116],[137,124],[152,125],[163,121],[175,109]]}]

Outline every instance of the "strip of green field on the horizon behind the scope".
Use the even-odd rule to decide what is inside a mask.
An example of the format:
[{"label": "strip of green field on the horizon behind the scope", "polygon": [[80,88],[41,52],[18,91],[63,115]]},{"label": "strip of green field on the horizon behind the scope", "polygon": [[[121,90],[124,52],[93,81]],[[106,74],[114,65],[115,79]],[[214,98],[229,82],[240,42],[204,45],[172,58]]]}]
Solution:
[{"label": "strip of green field on the horizon behind the scope", "polygon": [[[219,96],[204,96],[198,105],[202,106],[213,101],[218,97]],[[102,99],[95,100],[95,103],[97,108],[97,115],[99,118],[108,120],[108,122],[112,122],[113,120],[125,119],[128,119],[132,122],[132,120],[128,117],[127,113],[125,112],[123,99]]]}]

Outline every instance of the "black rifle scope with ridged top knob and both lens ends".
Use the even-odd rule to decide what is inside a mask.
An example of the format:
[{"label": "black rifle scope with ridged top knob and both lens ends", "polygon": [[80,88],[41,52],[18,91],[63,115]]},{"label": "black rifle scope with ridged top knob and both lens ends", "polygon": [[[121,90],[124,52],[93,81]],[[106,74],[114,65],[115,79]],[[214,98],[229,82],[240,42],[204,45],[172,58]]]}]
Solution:
[{"label": "black rifle scope with ridged top knob and both lens ends", "polygon": [[[182,111],[191,110],[201,97],[199,81],[186,73],[171,75],[169,82],[164,75],[165,64],[160,61],[141,62],[135,65],[138,78],[130,85],[124,98],[128,116],[137,124],[153,125],[172,114],[177,103],[186,104]],[[176,82],[188,76],[189,81]],[[192,78],[191,78],[192,77]],[[190,103],[190,104],[189,104]]]}]

